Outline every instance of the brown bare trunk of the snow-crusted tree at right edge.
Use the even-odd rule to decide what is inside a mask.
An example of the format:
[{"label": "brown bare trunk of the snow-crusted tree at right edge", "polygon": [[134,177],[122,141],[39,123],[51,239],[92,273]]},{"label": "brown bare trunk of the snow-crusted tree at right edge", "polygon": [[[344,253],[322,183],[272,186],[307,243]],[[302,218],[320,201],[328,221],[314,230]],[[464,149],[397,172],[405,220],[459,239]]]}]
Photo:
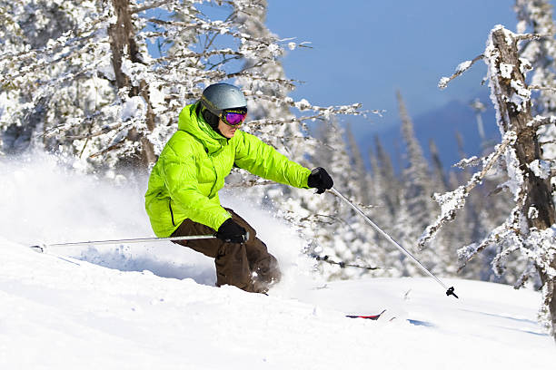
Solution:
[{"label": "brown bare trunk of the snow-crusted tree at right edge", "polygon": [[[527,123],[532,121],[531,116],[531,100],[527,97],[522,99],[522,94],[518,94],[516,86],[527,88],[525,77],[521,73],[521,62],[517,48],[517,40],[509,36],[506,30],[499,28],[492,32],[492,44],[499,52],[496,67],[497,71],[508,71],[511,66],[511,77],[508,78],[507,73],[496,73],[499,91],[494,92],[496,100],[500,106],[501,120],[503,122],[504,131],[515,131],[517,141],[513,148],[519,161],[520,169],[524,175],[524,191],[525,203],[521,212],[527,217],[530,229],[539,230],[548,229],[554,224],[554,203],[551,197],[551,178],[541,179],[537,177],[529,168],[529,163],[535,160],[541,160],[541,146],[539,145],[539,137],[537,128]],[[504,77],[505,75],[505,77]],[[521,102],[521,103],[520,103]],[[535,207],[538,210],[538,216],[531,216],[529,209]],[[556,268],[556,258],[552,257],[548,261],[551,268]],[[540,266],[537,269],[541,275],[542,284],[548,287],[554,287],[556,283],[553,277],[550,277],[547,271]],[[556,299],[554,290],[551,289],[551,295],[548,297],[546,304],[549,306],[551,313],[552,334],[556,340]]]}]

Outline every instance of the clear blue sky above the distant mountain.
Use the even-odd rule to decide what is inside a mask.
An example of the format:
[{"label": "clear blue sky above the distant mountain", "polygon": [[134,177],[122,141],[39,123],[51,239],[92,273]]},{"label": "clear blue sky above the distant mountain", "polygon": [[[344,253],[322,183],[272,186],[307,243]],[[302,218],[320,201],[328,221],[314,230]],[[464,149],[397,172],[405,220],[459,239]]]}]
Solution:
[{"label": "clear blue sky above the distant mountain", "polygon": [[[411,115],[487,93],[484,63],[441,91],[437,83],[482,54],[491,29],[515,31],[514,0],[269,0],[267,26],[282,38],[309,41],[313,49],[287,54],[289,78],[304,83],[292,93],[317,105],[362,102],[386,110],[355,128],[382,131],[399,122],[395,92]],[[344,119],[345,121],[345,119]]]}]

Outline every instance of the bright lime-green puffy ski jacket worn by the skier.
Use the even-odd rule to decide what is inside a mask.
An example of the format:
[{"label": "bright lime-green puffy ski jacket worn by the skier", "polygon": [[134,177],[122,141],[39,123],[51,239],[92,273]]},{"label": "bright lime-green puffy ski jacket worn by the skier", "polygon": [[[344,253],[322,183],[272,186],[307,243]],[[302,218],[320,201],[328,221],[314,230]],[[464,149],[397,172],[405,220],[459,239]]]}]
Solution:
[{"label": "bright lime-green puffy ski jacket worn by the skier", "polygon": [[197,103],[180,112],[178,131],[166,143],[149,178],[145,209],[159,238],[172,235],[184,219],[217,230],[232,216],[218,190],[233,165],[296,188],[308,188],[311,170],[288,160],[257,137],[237,130],[232,139],[197,116]]}]

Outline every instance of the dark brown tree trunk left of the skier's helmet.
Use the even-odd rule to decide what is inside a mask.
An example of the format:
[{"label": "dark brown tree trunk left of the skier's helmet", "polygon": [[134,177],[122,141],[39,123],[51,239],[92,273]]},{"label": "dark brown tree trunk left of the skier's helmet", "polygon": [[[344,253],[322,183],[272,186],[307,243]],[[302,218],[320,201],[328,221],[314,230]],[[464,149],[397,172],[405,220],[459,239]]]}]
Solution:
[{"label": "dark brown tree trunk left of the skier's helmet", "polygon": [[[129,58],[133,63],[143,63],[139,56],[139,50],[134,40],[134,25],[129,12],[128,0],[112,0],[114,14],[117,22],[108,28],[110,35],[110,48],[112,50],[112,64],[118,89],[129,88],[129,96],[141,96],[146,102],[146,126],[148,131],[154,130],[154,113],[149,99],[149,92],[146,83],[141,81],[138,86],[133,86],[127,74],[122,71],[122,61]],[[146,169],[150,163],[156,161],[154,146],[146,138],[145,132],[131,130],[127,135],[127,140],[140,141],[141,149],[137,153],[137,158],[129,161],[134,167]]]}]

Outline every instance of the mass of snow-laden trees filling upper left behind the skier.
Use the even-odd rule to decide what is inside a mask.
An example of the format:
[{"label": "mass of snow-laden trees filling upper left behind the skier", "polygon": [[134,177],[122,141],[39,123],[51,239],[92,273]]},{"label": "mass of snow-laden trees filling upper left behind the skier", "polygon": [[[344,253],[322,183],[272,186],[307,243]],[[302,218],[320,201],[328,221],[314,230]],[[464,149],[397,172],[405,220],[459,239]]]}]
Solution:
[{"label": "mass of snow-laden trees filling upper left behind the skier", "polygon": [[[210,83],[293,87],[291,80],[264,73],[285,48],[298,45],[243,32],[242,17],[264,11],[257,0],[2,4],[1,16],[10,19],[0,29],[0,40],[9,46],[0,54],[2,128],[14,131],[16,139],[36,124],[32,136],[45,149],[79,156],[94,169],[145,169],[174,132],[181,108]],[[221,7],[229,16],[211,19],[200,11],[203,5]],[[150,43],[162,44],[163,54],[151,55]],[[242,67],[238,61],[247,62]],[[296,108],[312,118],[355,113],[359,107],[323,108],[273,92],[245,90],[250,102]],[[255,120],[246,127],[279,130],[281,119]]]}]

